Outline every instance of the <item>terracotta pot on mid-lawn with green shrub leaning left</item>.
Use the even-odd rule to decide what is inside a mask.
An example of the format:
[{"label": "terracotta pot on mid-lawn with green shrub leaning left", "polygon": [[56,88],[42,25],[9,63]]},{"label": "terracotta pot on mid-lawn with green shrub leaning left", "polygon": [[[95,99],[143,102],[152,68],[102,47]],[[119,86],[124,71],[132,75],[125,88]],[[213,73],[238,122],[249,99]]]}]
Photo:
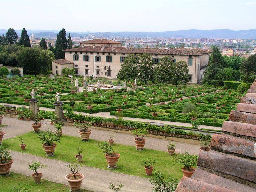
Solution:
[{"label": "terracotta pot on mid-lawn with green shrub leaning left", "polygon": [[117,162],[120,157],[120,154],[115,153],[113,150],[113,147],[109,145],[107,142],[102,142],[101,144],[97,144],[97,145],[105,153],[107,168],[109,169],[117,168]]}]

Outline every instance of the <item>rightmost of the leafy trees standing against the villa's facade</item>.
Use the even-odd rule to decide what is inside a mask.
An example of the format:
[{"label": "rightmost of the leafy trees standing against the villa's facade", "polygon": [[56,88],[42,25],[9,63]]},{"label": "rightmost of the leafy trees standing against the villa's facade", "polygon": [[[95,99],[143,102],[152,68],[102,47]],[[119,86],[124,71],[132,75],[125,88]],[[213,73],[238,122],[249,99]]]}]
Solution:
[{"label": "rightmost of the leafy trees standing against the villa's facade", "polygon": [[173,80],[172,83],[178,86],[179,83],[185,84],[189,80],[189,69],[185,61],[176,61],[173,67]]}]

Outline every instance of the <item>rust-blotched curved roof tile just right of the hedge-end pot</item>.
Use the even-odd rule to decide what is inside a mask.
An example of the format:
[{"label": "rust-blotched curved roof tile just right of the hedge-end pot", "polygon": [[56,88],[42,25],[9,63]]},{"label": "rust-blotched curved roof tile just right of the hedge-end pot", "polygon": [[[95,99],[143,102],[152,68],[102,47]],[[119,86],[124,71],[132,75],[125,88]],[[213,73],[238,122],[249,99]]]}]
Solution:
[{"label": "rust-blotched curved roof tile just right of the hedge-end pot", "polygon": [[256,143],[241,137],[234,137],[224,133],[221,135],[214,134],[211,140],[211,147],[221,152],[256,158]]}]

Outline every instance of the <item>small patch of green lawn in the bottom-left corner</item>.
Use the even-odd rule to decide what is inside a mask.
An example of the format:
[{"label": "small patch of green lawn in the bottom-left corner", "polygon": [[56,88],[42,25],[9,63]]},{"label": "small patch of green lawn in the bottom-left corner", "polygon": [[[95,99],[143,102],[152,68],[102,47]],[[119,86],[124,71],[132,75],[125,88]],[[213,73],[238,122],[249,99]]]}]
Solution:
[{"label": "small patch of green lawn in the bottom-left corner", "polygon": [[[69,186],[63,185],[60,183],[55,183],[47,181],[45,179],[41,180],[41,183],[35,184],[32,177],[26,175],[20,175],[17,173],[11,172],[8,176],[0,177],[0,189],[1,192],[10,192],[13,191],[13,186],[18,186],[21,188],[21,192],[27,190],[27,192],[69,192]],[[85,189],[82,189],[81,192],[92,192]]]}]

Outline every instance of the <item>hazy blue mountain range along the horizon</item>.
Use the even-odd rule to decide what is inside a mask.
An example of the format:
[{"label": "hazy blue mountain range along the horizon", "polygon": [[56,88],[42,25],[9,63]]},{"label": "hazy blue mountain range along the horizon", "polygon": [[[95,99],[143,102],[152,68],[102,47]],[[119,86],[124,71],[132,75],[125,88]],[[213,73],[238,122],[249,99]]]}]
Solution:
[{"label": "hazy blue mountain range along the horizon", "polygon": [[[0,35],[5,34],[7,29],[0,29]],[[21,34],[21,29],[15,30],[18,35]],[[53,38],[59,33],[58,30],[27,30],[28,35],[32,33],[36,37],[48,37]],[[249,30],[230,30],[230,29],[212,29],[212,30],[177,30],[177,31],[162,31],[162,32],[143,32],[143,31],[120,31],[120,32],[78,32],[67,31],[67,34],[71,34],[72,37],[86,37],[88,34],[95,37],[111,38],[226,38],[226,39],[256,39],[256,29]]]}]

